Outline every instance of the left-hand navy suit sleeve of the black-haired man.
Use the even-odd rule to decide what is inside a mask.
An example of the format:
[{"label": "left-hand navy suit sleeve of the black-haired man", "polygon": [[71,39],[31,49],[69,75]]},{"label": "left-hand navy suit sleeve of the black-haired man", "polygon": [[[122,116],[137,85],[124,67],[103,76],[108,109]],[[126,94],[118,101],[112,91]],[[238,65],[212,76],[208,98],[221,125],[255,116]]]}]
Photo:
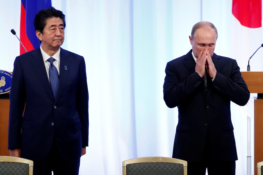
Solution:
[{"label": "left-hand navy suit sleeve of the black-haired man", "polygon": [[21,126],[25,107],[25,87],[18,58],[14,62],[9,101],[8,149],[18,149],[21,146]]}]

